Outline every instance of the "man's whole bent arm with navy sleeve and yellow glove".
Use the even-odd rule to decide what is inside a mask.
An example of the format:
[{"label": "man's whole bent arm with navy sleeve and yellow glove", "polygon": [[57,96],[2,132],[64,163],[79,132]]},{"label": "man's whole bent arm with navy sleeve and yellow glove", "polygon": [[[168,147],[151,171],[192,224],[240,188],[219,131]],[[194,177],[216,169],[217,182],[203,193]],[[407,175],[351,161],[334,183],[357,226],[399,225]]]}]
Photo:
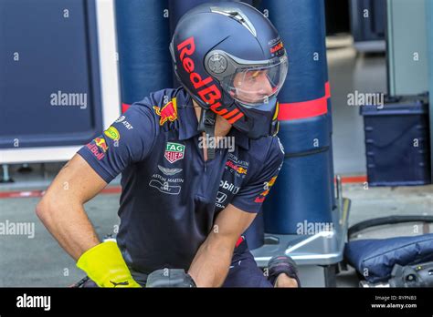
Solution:
[{"label": "man's whole bent arm with navy sleeve and yellow glove", "polygon": [[122,170],[150,154],[159,131],[150,105],[160,101],[145,98],[133,104],[110,128],[80,148],[37,205],[37,216],[49,232],[100,287],[140,285],[133,281],[117,243],[100,243],[83,205]]}]

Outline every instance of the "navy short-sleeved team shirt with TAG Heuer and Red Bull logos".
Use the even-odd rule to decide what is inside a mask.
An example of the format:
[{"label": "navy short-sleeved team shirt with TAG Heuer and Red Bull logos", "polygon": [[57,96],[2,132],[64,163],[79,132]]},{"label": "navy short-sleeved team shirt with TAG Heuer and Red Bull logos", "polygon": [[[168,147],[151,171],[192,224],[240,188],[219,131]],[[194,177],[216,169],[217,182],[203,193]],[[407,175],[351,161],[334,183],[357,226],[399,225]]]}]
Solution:
[{"label": "navy short-sleeved team shirt with TAG Heuer and Red Bull logos", "polygon": [[121,173],[117,241],[132,270],[188,270],[216,215],[229,203],[259,212],[274,184],[284,158],[279,138],[251,140],[231,128],[234,147],[205,161],[201,135],[185,89],[165,89],[79,149],[107,183]]}]

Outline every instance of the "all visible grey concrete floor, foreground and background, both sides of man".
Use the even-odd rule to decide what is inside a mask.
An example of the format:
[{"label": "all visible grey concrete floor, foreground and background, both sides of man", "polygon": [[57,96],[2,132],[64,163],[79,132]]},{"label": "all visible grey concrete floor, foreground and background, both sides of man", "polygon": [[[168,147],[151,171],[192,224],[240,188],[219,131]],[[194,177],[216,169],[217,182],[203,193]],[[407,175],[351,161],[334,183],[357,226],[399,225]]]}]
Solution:
[{"label": "all visible grey concrete floor, foreground and background, both sides of man", "polygon": [[[385,91],[385,57],[357,56],[352,47],[328,52],[333,94],[333,148],[335,173],[365,174],[363,119],[358,107],[347,106],[347,94]],[[11,175],[16,180],[0,184],[0,191],[46,189],[62,164],[31,165],[33,172],[20,174],[16,166]],[[119,184],[115,179],[112,184]],[[433,186],[405,188],[370,188],[362,184],[343,185],[343,196],[352,199],[350,225],[385,215],[433,215]],[[82,277],[75,262],[58,246],[37,220],[38,198],[0,199],[0,222],[30,222],[35,237],[0,235],[0,286],[68,286]],[[86,204],[90,220],[102,238],[115,230],[119,220],[118,194],[100,194]],[[383,238],[416,234],[417,224],[365,231],[363,237]],[[433,229],[433,228],[432,228]],[[354,270],[342,272],[339,287],[356,287]]]}]

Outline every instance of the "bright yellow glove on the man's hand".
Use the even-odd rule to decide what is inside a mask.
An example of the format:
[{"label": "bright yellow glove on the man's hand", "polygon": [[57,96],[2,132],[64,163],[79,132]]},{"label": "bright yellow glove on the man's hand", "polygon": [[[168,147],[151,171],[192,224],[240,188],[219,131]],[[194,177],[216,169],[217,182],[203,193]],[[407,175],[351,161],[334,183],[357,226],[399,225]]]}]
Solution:
[{"label": "bright yellow glove on the man's hand", "polygon": [[77,267],[99,287],[141,287],[133,281],[115,241],[102,242],[85,251],[79,257]]}]

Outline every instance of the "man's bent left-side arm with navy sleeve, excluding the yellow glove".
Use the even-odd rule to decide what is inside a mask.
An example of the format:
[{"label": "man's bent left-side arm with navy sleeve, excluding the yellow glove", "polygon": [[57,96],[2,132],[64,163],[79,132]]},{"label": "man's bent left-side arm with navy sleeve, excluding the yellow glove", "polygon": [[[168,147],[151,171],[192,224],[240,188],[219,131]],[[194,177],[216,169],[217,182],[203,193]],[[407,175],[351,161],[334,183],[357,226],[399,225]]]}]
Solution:
[{"label": "man's bent left-side arm with navy sleeve, excluding the yellow glove", "polygon": [[148,106],[151,103],[153,100],[146,98],[122,114],[121,121],[133,128],[116,121],[111,125],[115,136],[105,131],[80,148],[37,205],[37,216],[74,260],[100,243],[84,203],[127,166],[143,160],[153,147],[157,126],[153,109]]}]

